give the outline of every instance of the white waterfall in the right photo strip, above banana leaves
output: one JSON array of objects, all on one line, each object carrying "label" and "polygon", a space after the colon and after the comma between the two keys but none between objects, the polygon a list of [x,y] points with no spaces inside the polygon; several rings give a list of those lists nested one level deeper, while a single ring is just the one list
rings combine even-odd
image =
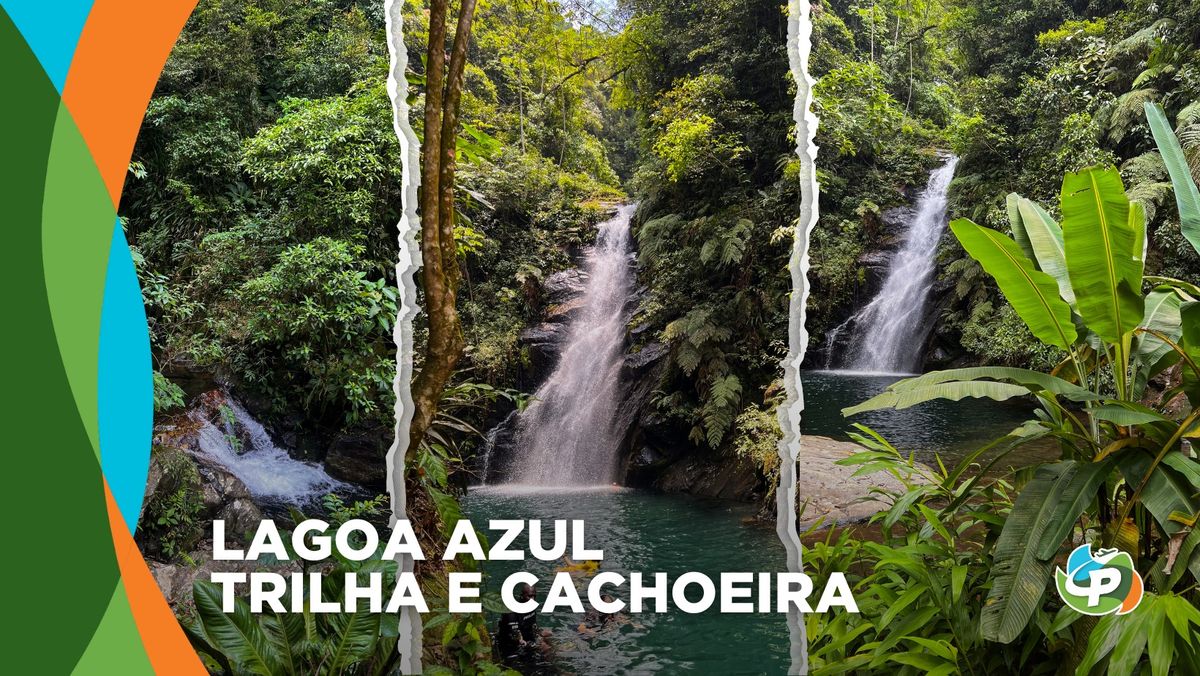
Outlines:
[{"label": "white waterfall in the right photo strip, above banana leaves", "polygon": [[[946,193],[958,162],[950,156],[929,175],[880,293],[830,334],[827,349],[832,354],[838,334],[853,330],[846,358],[836,360],[844,367],[876,373],[911,373],[920,367],[929,334],[925,305],[934,286],[934,257],[946,229]],[[830,359],[829,365],[833,363]]]}]

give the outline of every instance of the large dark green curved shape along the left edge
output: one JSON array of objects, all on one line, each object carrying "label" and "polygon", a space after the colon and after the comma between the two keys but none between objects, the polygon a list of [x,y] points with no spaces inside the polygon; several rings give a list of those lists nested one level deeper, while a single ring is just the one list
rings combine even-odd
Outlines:
[{"label": "large dark green curved shape along the left edge", "polygon": [[42,198],[59,96],[6,13],[0,12],[6,120],[2,185],[7,241],[4,288],[5,603],[22,618],[6,628],[8,674],[66,674],[108,609],[119,570],[100,465],[59,358],[42,268]]}]

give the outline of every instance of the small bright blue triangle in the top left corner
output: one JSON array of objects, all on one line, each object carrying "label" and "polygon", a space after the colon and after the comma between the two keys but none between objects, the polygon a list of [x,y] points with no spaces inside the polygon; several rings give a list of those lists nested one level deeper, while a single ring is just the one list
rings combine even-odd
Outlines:
[{"label": "small bright blue triangle in the top left corner", "polygon": [[91,0],[0,0],[0,5],[62,94]]}]

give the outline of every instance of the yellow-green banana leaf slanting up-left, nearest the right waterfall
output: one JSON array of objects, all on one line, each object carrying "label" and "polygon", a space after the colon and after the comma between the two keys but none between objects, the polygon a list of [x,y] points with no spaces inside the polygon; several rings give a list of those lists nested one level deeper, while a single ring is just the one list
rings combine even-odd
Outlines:
[{"label": "yellow-green banana leaf slanting up-left, nearest the right waterfall", "polygon": [[1033,267],[1013,240],[966,219],[950,223],[962,249],[991,275],[1013,310],[1046,345],[1070,349],[1075,324],[1070,306],[1058,295],[1058,283]]}]

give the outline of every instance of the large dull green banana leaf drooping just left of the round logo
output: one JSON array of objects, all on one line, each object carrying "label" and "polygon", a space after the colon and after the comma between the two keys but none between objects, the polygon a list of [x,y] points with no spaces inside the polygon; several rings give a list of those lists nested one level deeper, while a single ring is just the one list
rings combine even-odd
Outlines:
[{"label": "large dull green banana leaf drooping just left of the round logo", "polygon": [[1080,473],[1088,465],[1073,460],[1043,465],[1016,497],[996,540],[991,591],[980,615],[985,639],[1008,644],[1028,624],[1054,569],[1051,557],[1039,556],[1038,543],[1048,531],[1061,530],[1052,522],[1056,516],[1068,521],[1079,516],[1061,510],[1060,504],[1074,503],[1088,485],[1094,491],[1093,475]]}]

